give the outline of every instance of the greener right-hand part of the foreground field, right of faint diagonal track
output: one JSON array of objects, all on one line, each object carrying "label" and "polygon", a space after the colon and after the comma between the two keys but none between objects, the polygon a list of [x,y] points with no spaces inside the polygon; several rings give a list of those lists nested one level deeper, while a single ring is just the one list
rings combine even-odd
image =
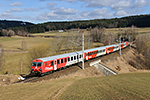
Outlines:
[{"label": "greener right-hand part of the foreground field, right of faint diagonal track", "polygon": [[75,81],[61,100],[139,100],[150,99],[150,73],[121,74]]}]

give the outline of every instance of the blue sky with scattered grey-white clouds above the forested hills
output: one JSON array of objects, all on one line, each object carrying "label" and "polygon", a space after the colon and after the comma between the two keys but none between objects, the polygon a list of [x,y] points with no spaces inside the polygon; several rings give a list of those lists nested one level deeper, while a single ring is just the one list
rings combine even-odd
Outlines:
[{"label": "blue sky with scattered grey-white clouds above the forested hills", "polygon": [[150,14],[150,0],[1,0],[0,20],[75,21]]}]

